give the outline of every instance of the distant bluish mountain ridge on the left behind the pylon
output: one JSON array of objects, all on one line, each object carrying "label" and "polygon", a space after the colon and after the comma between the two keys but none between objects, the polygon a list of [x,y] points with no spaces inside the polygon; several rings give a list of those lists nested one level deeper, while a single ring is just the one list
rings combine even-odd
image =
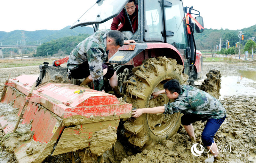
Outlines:
[{"label": "distant bluish mountain ridge on the left behind the pylon", "polygon": [[[22,42],[22,37],[25,37],[26,44],[37,44],[37,40],[41,41],[41,44],[48,42],[52,39],[59,39],[66,36],[76,36],[78,34],[92,34],[93,28],[91,27],[76,27],[69,29],[70,26],[66,26],[61,30],[37,30],[37,31],[24,31],[15,30],[11,32],[0,31],[0,42],[2,45],[17,45],[17,41]],[[22,34],[24,33],[24,34]],[[24,43],[22,43],[24,44]]]}]

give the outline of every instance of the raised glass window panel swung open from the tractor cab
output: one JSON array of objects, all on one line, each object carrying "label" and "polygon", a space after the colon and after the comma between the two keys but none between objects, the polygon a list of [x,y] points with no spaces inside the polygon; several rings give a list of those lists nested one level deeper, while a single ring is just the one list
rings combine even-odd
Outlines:
[{"label": "raised glass window panel swung open from the tractor cab", "polygon": [[128,0],[97,0],[71,27],[103,23],[117,16]]}]

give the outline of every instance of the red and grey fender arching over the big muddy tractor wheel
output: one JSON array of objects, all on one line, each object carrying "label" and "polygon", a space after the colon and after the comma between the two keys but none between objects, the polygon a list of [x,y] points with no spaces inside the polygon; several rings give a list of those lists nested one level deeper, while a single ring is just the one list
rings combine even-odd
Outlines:
[{"label": "red and grey fender arching over the big muddy tractor wheel", "polygon": [[[116,64],[126,64],[127,62],[131,61],[134,57],[136,57],[139,53],[141,53],[144,50],[149,49],[163,49],[164,52],[167,52],[165,56],[167,58],[173,58],[176,59],[178,64],[181,64],[184,68],[184,61],[182,59],[182,56],[178,49],[176,49],[174,46],[168,43],[136,43],[136,44],[130,44],[130,45],[123,45],[118,49],[118,51],[112,55],[108,62],[109,63],[116,63]],[[174,52],[177,55],[168,55],[168,52]],[[152,57],[158,57],[163,56],[162,53],[152,53],[149,58]],[[144,56],[144,59],[147,59],[147,57]],[[140,60],[142,63],[142,60]],[[134,66],[139,66],[141,63],[134,63]]]}]

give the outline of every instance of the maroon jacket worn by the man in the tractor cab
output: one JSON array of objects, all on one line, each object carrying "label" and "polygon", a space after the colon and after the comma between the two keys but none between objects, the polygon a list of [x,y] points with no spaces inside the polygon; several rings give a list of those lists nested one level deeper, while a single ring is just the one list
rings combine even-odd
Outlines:
[{"label": "maroon jacket worn by the man in the tractor cab", "polygon": [[[132,14],[132,18],[130,17],[130,20],[132,23],[133,31],[136,32],[138,29],[138,5],[136,5],[135,12]],[[132,28],[126,16],[125,9],[123,9],[115,18],[113,18],[113,22],[110,27],[111,30],[118,30],[121,32],[122,31],[132,32]]]}]

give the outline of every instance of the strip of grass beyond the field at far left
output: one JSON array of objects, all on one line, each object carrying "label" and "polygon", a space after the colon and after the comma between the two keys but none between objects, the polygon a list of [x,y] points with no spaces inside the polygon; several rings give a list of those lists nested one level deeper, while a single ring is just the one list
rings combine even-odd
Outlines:
[{"label": "strip of grass beyond the field at far left", "polygon": [[10,67],[23,67],[23,66],[38,66],[43,64],[44,62],[49,62],[49,64],[52,64],[52,61],[56,59],[23,59],[21,61],[20,59],[15,60],[0,60],[0,68],[10,68]]}]

